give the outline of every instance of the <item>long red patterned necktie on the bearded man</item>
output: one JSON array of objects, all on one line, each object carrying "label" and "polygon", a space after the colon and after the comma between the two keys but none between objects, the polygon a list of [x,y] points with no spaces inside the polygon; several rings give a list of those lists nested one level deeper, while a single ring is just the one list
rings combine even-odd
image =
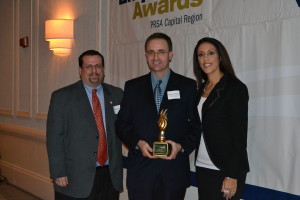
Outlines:
[{"label": "long red patterned necktie on the bearded man", "polygon": [[100,136],[97,161],[101,166],[103,166],[106,163],[108,157],[107,144],[106,144],[106,134],[105,134],[103,118],[102,118],[102,110],[96,93],[97,90],[93,89],[92,103],[94,109],[94,116],[95,116],[98,132]]}]

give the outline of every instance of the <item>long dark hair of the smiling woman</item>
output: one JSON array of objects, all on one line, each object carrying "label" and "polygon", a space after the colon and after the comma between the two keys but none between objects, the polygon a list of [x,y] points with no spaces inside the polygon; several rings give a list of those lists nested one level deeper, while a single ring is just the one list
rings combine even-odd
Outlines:
[{"label": "long dark hair of the smiling woman", "polygon": [[203,80],[204,81],[207,80],[207,75],[203,72],[203,70],[201,69],[200,64],[198,62],[198,53],[197,53],[199,46],[203,43],[210,43],[216,48],[217,53],[220,58],[220,66],[219,67],[220,67],[221,72],[228,72],[228,73],[232,74],[233,76],[235,76],[228,52],[227,52],[226,48],[224,47],[224,45],[217,39],[205,37],[198,41],[198,43],[194,49],[193,67],[194,67],[194,74],[197,78],[198,84],[201,84]]}]

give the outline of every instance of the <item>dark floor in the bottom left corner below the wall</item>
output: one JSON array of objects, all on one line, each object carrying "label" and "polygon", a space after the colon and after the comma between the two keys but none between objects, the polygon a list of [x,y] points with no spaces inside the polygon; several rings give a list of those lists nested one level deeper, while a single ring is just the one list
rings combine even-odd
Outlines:
[{"label": "dark floor in the bottom left corner below the wall", "polygon": [[0,200],[41,200],[10,184],[0,184]]}]

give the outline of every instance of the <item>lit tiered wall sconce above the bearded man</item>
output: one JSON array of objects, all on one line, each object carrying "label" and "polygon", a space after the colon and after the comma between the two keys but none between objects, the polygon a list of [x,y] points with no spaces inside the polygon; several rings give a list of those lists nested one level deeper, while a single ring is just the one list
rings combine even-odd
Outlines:
[{"label": "lit tiered wall sconce above the bearded man", "polygon": [[45,39],[49,41],[49,49],[54,55],[70,55],[74,38],[74,20],[56,19],[45,21]]}]

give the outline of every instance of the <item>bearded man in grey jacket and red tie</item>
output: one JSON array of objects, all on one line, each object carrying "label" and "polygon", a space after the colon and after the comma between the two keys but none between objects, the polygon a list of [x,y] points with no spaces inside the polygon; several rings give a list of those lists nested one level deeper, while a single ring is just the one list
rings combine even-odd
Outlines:
[{"label": "bearded man in grey jacket and red tie", "polygon": [[53,92],[47,150],[55,199],[119,199],[122,145],[115,120],[123,92],[103,83],[104,58],[94,50],[79,57],[81,80]]}]

